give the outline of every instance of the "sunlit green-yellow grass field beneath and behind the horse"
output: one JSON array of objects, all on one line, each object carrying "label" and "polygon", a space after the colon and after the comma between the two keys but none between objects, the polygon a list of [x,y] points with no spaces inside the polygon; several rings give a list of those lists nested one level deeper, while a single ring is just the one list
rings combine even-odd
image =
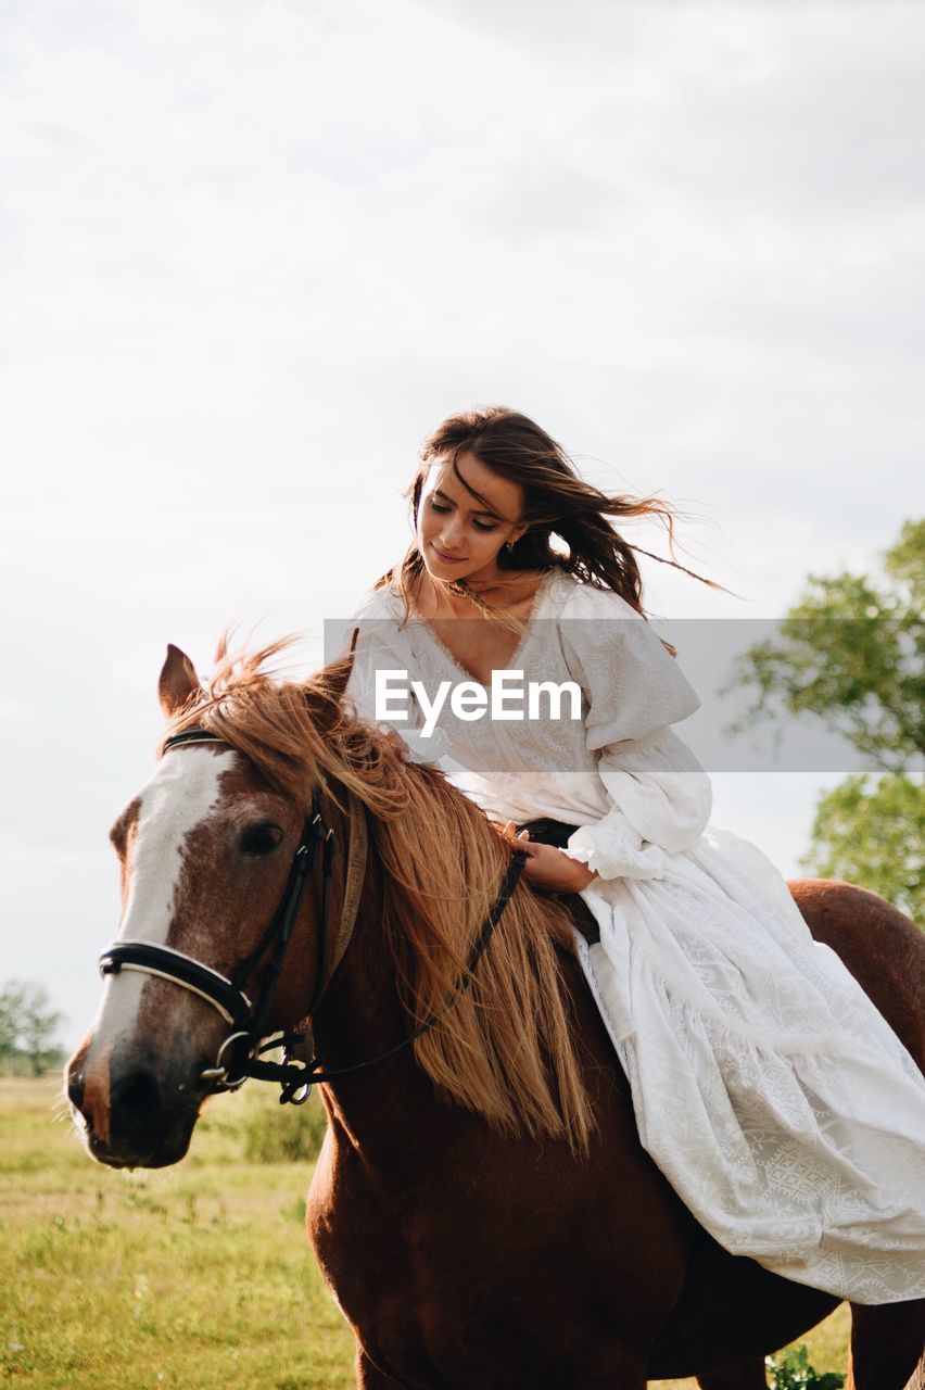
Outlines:
[{"label": "sunlit green-yellow grass field beneath and behind the horse", "polygon": [[[354,1384],[304,1234],[311,1165],[253,1158],[256,1131],[293,1123],[271,1088],[212,1102],[182,1163],[133,1175],[86,1156],[54,1118],[58,1091],[0,1080],[0,1375],[40,1390]],[[847,1309],[806,1340],[817,1369],[844,1371]]]}]

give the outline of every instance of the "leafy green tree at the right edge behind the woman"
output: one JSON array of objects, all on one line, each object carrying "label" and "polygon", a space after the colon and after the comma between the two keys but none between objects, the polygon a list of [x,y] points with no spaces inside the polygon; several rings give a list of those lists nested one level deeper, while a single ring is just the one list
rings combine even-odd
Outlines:
[{"label": "leafy green tree at the right edge behind the woman", "polygon": [[819,801],[803,866],[872,888],[919,920],[924,602],[925,520],[907,521],[883,578],[808,575],[779,637],[750,648],[733,676],[756,691],[733,731],[782,714],[822,720],[879,769]]}]

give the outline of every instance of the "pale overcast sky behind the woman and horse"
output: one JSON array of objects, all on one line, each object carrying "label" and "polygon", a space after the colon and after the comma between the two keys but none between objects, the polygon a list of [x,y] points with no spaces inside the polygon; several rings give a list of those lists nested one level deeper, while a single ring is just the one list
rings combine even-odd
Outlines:
[{"label": "pale overcast sky behind the woman and horse", "polygon": [[[444,416],[671,500],[733,594],[644,562],[667,619],[779,617],[921,514],[924,51],[892,0],[6,0],[0,980],[67,1045],[167,642],[317,664]],[[797,769],[714,778],[788,876],[839,780]]]}]

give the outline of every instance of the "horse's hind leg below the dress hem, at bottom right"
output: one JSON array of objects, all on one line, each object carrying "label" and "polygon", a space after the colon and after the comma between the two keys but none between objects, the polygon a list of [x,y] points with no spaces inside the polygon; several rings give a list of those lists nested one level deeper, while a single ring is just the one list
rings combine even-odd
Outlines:
[{"label": "horse's hind leg below the dress hem, at bottom right", "polygon": [[925,1298],[851,1304],[847,1390],[925,1387]]}]

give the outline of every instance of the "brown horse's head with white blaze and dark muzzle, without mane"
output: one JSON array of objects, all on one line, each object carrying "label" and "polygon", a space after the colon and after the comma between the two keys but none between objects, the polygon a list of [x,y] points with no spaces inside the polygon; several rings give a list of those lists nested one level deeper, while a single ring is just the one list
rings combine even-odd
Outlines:
[{"label": "brown horse's head with white blaze and dark muzzle, without mane", "polygon": [[[324,694],[336,708],[338,691]],[[325,824],[317,784],[299,794],[221,733],[197,730],[204,691],[172,646],[160,698],[179,733],[112,827],[119,940],[101,959],[100,1011],[67,1069],[89,1151],[114,1166],[181,1159],[204,1097],[239,1081],[260,1038],[304,1019],[344,945],[343,874],[322,891],[332,820],[342,828],[343,815],[325,798]],[[312,929],[318,949],[303,942],[276,980],[290,934]]]}]

